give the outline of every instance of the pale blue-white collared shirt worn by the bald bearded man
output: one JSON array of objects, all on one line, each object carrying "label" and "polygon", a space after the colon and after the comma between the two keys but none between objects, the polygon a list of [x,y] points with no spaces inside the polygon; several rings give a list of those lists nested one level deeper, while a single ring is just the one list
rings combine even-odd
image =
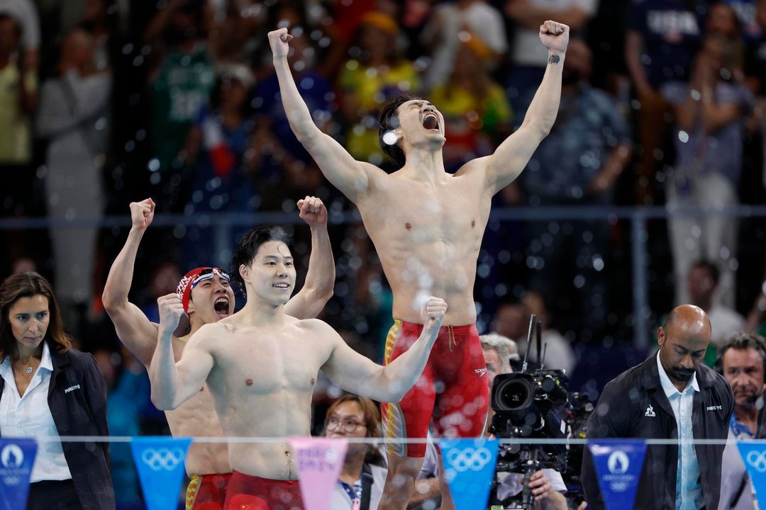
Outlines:
[{"label": "pale blue-white collared shirt worn by the bald bearded man", "polygon": [[673,408],[678,429],[678,466],[676,467],[676,510],[697,510],[705,505],[702,494],[702,482],[699,478],[699,463],[694,450],[694,432],[692,431],[692,410],[694,408],[694,392],[699,391],[697,375],[692,374],[691,380],[683,391],[678,391],[670,382],[670,378],[660,362],[660,352],[657,352],[657,369],[660,371],[660,384],[665,396]]}]

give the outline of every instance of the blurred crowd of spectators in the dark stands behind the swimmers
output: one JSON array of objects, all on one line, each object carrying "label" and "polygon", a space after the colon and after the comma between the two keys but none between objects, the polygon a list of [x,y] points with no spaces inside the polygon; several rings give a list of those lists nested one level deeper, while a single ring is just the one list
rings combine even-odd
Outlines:
[{"label": "blurred crowd of spectators in the dark stands behind the swimmers", "polygon": [[[112,434],[162,433],[144,369],[100,304],[129,220],[101,219],[146,197],[158,218],[188,219],[152,226],[139,252],[131,300],[156,319],[156,298],[189,268],[226,265],[211,214],[297,217],[313,195],[330,212],[338,278],[321,317],[380,361],[391,292],[361,223],[332,222],[353,205],[293,137],[266,34],[289,28],[303,99],[355,158],[395,170],[376,115],[410,94],[444,114],[454,172],[523,122],[547,65],[545,19],[571,28],[558,119],[493,210],[665,206],[643,239],[650,315],[633,316],[623,217],[490,219],[480,333],[519,342],[535,313],[546,365],[592,399],[647,354],[633,327],[656,330],[675,304],[708,311],[713,343],[763,333],[766,219],[724,212],[766,203],[766,0],[2,0],[0,271],[54,281],[67,330],[119,402]],[[675,213],[689,207],[712,214]],[[35,218],[49,228],[14,223]],[[226,248],[249,227],[226,229]],[[308,229],[294,235],[305,274]]]}]

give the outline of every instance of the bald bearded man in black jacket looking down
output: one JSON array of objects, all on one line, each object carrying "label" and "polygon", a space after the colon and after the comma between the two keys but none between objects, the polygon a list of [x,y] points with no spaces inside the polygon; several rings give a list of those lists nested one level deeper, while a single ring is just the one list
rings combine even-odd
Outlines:
[{"label": "bald bearded man in black jacket looking down", "polygon": [[[647,447],[636,510],[718,508],[725,442],[691,442],[725,440],[734,411],[728,382],[702,365],[710,334],[702,308],[674,308],[657,331],[659,352],[609,382],[588,418],[588,439],[678,440]],[[581,479],[590,508],[604,508],[588,448]]]}]

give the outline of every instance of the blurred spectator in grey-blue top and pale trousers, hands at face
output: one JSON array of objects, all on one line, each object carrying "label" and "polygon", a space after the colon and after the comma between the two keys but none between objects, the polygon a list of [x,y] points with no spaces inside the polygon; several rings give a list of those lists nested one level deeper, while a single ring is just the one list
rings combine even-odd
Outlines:
[{"label": "blurred spectator in grey-blue top and pale trousers, hands at face", "polygon": [[[705,37],[689,84],[666,83],[663,96],[676,114],[676,161],[668,185],[671,211],[689,206],[721,210],[736,205],[742,171],[745,117],[753,97],[741,82],[737,41],[722,34]],[[676,278],[676,303],[689,302],[684,279],[692,262],[706,258],[721,270],[716,299],[734,306],[738,222],[734,216],[689,216],[668,220]]]}]

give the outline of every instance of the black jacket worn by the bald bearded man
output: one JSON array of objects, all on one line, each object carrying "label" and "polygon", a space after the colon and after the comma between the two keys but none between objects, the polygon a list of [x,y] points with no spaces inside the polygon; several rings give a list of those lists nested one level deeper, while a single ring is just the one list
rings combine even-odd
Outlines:
[{"label": "black jacket worn by the bald bearded man", "polygon": [[[721,375],[705,365],[696,372],[699,391],[694,392],[694,439],[722,439],[734,411],[732,388]],[[609,382],[588,418],[588,439],[643,437],[677,439],[676,417],[660,384],[656,355]],[[721,489],[724,444],[695,444],[705,508],[715,510]],[[676,508],[678,444],[649,445],[636,495],[635,510]],[[597,475],[588,448],[583,450],[581,482],[590,508],[604,508]],[[627,505],[626,505],[627,508]]]}]

